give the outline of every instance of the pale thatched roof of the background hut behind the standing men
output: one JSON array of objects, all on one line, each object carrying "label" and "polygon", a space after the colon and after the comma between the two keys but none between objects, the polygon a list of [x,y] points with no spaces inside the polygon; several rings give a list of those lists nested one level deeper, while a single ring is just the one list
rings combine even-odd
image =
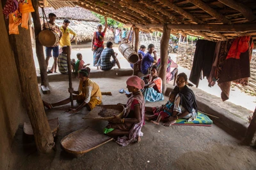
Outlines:
[{"label": "pale thatched roof of the background hut behind the standing men", "polygon": [[[86,10],[79,6],[65,6],[63,8],[58,8],[56,10],[52,7],[45,7],[44,10],[47,17],[49,13],[54,13],[57,16],[56,18],[60,19],[67,18],[73,20],[100,22],[99,18],[95,17],[95,15],[92,14],[92,11]],[[40,17],[43,17],[42,10],[39,10],[39,15]]]}]

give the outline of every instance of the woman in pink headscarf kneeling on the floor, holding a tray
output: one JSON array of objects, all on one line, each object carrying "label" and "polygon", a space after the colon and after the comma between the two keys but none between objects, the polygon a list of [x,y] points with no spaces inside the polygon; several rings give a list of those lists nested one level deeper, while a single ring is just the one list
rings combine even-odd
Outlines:
[{"label": "woman in pink headscarf kneeling on the floor, holding a tray", "polygon": [[125,106],[125,113],[122,118],[114,118],[104,129],[108,136],[117,137],[116,143],[122,146],[129,145],[134,139],[140,142],[140,136],[143,136],[141,127],[143,126],[145,101],[141,94],[145,83],[138,76],[131,76],[127,79],[127,89],[132,92]]}]

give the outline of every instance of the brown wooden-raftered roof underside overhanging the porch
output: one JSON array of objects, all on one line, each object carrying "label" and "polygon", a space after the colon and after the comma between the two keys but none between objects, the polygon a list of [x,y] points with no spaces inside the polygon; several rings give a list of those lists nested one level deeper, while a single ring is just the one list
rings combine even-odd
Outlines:
[{"label": "brown wooden-raftered roof underside overhanging the porch", "polygon": [[[78,0],[51,1],[76,4],[142,30],[202,36],[212,41],[250,35],[256,38],[255,0]],[[70,5],[71,6],[71,5]]]}]

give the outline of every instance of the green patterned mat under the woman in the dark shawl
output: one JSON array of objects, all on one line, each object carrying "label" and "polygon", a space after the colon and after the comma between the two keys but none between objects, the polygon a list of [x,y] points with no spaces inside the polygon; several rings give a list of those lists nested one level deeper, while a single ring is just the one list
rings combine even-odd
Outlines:
[{"label": "green patterned mat under the woman in the dark shawl", "polygon": [[180,118],[179,120],[176,121],[175,124],[205,124],[205,125],[211,125],[213,122],[212,120],[207,117],[207,115],[204,115],[203,113],[200,113],[198,111],[198,115],[196,117],[196,120],[193,120],[191,122],[188,122],[188,120],[184,118]]}]

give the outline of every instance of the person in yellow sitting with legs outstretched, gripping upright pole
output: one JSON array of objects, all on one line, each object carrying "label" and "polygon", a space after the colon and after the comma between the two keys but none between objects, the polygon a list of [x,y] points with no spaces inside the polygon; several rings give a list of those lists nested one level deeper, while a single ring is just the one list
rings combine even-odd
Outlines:
[{"label": "person in yellow sitting with legs outstretched, gripping upright pole", "polygon": [[[77,100],[77,103],[80,103],[80,105],[75,109],[71,108],[68,113],[76,113],[84,106],[90,111],[95,108],[96,105],[100,104],[102,100],[99,85],[89,78],[90,68],[86,67],[85,69],[81,69],[78,73],[80,80],[78,90],[68,89],[68,92],[76,94],[73,95],[73,100]],[[55,106],[70,103],[70,97],[57,103],[47,103],[45,101],[43,101],[43,103],[45,107],[51,109]]]}]

